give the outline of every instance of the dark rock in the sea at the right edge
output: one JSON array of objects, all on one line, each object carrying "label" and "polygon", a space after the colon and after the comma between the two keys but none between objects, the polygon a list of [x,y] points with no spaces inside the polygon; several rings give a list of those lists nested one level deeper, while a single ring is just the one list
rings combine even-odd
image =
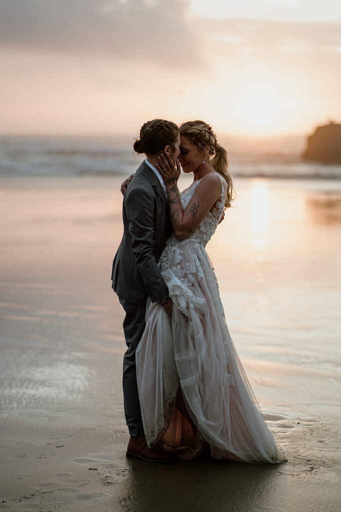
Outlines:
[{"label": "dark rock in the sea at the right edge", "polygon": [[308,137],[302,157],[317,162],[341,164],[341,124],[331,121],[325,126],[317,126],[314,134]]}]

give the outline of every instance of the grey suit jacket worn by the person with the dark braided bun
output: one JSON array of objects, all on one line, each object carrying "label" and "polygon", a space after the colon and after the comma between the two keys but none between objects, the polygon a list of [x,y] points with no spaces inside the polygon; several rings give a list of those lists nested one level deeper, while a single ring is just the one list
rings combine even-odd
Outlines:
[{"label": "grey suit jacket worn by the person with the dark braided bun", "polygon": [[153,170],[143,162],[123,199],[123,238],[112,264],[112,288],[133,304],[168,295],[157,262],[172,233],[169,206]]}]

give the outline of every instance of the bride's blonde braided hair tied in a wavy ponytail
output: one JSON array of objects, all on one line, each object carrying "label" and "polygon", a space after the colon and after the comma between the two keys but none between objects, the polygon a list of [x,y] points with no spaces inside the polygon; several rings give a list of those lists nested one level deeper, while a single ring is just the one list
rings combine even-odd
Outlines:
[{"label": "bride's blonde braided hair tied in a wavy ponytail", "polygon": [[180,135],[186,137],[195,144],[199,151],[211,160],[216,170],[228,183],[228,193],[225,200],[225,208],[231,207],[234,190],[232,177],[229,172],[229,158],[226,150],[217,142],[217,136],[212,127],[204,121],[187,121],[180,125]]}]

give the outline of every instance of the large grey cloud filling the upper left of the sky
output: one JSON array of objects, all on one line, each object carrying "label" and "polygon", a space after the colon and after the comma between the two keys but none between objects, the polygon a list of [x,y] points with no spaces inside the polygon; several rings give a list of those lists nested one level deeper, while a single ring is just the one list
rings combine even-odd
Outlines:
[{"label": "large grey cloud filling the upper left of the sky", "polygon": [[0,44],[190,70],[202,63],[181,0],[0,0]]}]

